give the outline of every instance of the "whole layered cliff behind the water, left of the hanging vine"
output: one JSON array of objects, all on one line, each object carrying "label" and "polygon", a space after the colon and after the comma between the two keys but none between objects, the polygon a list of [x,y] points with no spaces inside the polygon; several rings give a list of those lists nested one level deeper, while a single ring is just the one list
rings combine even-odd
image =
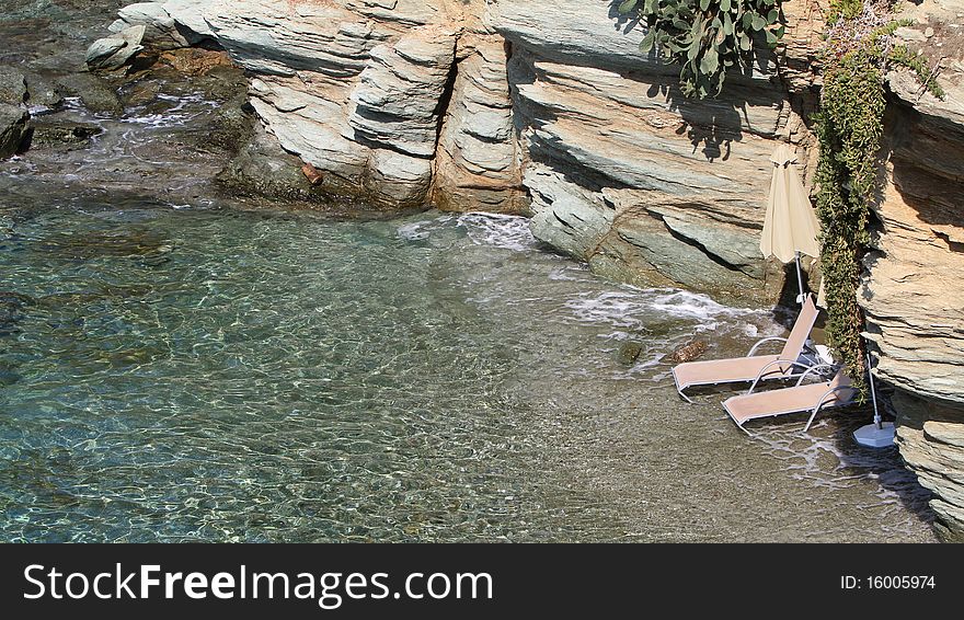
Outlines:
[{"label": "whole layered cliff behind the water, left of the hanging vine", "polygon": [[770,301],[783,284],[758,234],[767,158],[801,123],[772,58],[726,100],[686,100],[605,0],[171,0],[112,30],[138,25],[227,49],[328,192],[530,213],[539,239],[628,282]]}]

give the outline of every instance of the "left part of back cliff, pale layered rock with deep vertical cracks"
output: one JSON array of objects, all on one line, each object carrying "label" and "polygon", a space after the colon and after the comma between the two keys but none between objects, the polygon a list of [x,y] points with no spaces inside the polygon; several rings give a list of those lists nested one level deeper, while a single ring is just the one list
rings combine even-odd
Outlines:
[{"label": "left part of back cliff, pale layered rock with deep vertical cracks", "polygon": [[267,130],[325,191],[519,211],[504,44],[477,4],[172,0],[128,7],[113,27],[141,23],[159,48],[227,49]]}]

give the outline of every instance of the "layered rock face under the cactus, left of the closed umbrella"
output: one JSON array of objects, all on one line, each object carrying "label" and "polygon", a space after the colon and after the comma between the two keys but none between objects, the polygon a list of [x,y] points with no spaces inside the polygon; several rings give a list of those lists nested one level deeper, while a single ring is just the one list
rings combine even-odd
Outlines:
[{"label": "layered rock face under the cactus, left of the closed umbrella", "polygon": [[618,279],[765,295],[768,157],[790,110],[771,74],[733,77],[726,100],[696,102],[636,51],[640,28],[592,19],[584,3],[491,3],[486,23],[512,44],[539,239]]}]

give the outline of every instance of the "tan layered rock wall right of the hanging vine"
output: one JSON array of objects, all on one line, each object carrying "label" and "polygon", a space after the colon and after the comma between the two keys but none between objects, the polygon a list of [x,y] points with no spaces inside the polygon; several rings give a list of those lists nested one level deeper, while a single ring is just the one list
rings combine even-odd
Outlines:
[{"label": "tan layered rock wall right of the hanging vine", "polygon": [[943,101],[890,76],[888,163],[861,303],[877,376],[898,388],[898,444],[941,527],[964,540],[964,2],[928,1],[899,33],[941,71]]}]

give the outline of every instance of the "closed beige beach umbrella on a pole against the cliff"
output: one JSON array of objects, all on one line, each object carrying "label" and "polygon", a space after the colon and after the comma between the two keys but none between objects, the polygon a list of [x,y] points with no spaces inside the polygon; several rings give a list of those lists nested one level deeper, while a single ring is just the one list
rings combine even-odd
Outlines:
[{"label": "closed beige beach umbrella on a pole against the cliff", "polygon": [[796,154],[788,145],[780,145],[770,156],[773,162],[773,179],[770,182],[770,196],[767,200],[767,217],[764,220],[764,234],[760,252],[764,257],[776,256],[783,263],[796,261],[796,280],[803,296],[803,276],[800,268],[800,254],[814,259],[820,255],[817,244],[817,216],[810,204],[810,197],[793,163]]}]

